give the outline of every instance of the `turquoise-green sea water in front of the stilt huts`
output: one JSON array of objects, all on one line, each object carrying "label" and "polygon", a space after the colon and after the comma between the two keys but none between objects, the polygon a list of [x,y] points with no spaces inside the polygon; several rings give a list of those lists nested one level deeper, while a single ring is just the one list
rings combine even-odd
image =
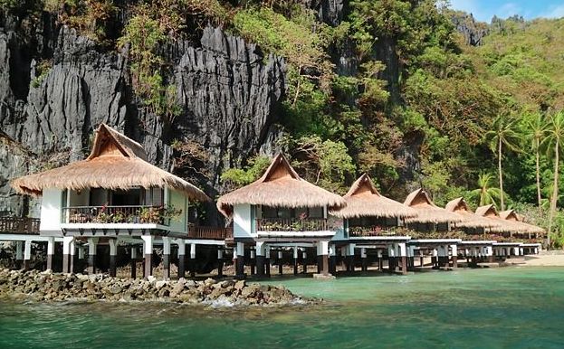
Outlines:
[{"label": "turquoise-green sea water in front of the stilt huts", "polygon": [[564,269],[272,278],[315,307],[0,303],[0,348],[564,347]]}]

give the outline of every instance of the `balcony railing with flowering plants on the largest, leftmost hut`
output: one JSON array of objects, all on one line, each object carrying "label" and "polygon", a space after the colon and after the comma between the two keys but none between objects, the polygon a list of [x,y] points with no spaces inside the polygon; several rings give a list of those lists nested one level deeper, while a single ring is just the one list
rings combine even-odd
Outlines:
[{"label": "balcony railing with flowering plants on the largest, leftmost hut", "polygon": [[68,223],[153,223],[168,225],[170,212],[164,206],[76,206],[62,208]]}]

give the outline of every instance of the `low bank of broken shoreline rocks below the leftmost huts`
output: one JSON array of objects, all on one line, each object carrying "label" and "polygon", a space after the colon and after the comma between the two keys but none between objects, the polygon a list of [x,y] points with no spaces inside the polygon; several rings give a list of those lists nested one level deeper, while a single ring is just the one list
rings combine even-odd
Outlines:
[{"label": "low bank of broken shoreline rocks below the leftmost huts", "polygon": [[216,307],[292,306],[317,302],[296,296],[284,287],[248,284],[244,280],[131,279],[103,274],[0,269],[0,297],[6,296],[34,301],[166,301]]}]

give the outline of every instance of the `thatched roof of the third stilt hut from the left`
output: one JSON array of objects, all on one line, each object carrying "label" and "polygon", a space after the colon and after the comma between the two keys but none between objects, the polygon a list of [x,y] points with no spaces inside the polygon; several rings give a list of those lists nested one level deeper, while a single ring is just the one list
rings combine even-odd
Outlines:
[{"label": "thatched roof of the third stilt hut from the left", "polygon": [[340,218],[355,217],[415,217],[417,212],[378,193],[368,174],[362,174],[343,196],[347,206],[331,214]]}]

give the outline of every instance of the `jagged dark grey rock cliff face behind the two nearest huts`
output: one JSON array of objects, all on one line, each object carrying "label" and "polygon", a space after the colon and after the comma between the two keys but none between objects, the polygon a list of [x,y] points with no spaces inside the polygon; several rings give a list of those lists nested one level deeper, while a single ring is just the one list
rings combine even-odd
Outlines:
[{"label": "jagged dark grey rock cliff face behind the two nearest huts", "polygon": [[[173,122],[136,101],[127,52],[101,49],[75,30],[54,24],[0,19],[0,213],[27,210],[7,181],[53,163],[83,158],[93,130],[106,122],[145,146],[150,161],[174,164],[173,141],[194,142],[208,157],[192,180],[210,196],[219,174],[259,149],[274,151],[276,108],[284,62],[263,57],[255,45],[207,27],[200,42],[163,47],[182,112]],[[38,71],[41,61],[51,68]],[[13,149],[22,149],[15,155]],[[14,156],[27,160],[18,161]],[[24,162],[24,164],[22,163]],[[33,212],[32,212],[33,214]]]}]

